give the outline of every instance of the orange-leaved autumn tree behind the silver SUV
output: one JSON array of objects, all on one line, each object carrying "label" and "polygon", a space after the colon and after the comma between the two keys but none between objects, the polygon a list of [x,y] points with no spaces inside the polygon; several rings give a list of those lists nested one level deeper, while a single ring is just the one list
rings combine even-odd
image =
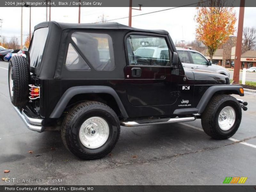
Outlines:
[{"label": "orange-leaved autumn tree behind the silver SUV", "polygon": [[233,7],[198,7],[195,20],[197,22],[196,39],[208,48],[212,61],[214,52],[236,30],[236,12]]}]

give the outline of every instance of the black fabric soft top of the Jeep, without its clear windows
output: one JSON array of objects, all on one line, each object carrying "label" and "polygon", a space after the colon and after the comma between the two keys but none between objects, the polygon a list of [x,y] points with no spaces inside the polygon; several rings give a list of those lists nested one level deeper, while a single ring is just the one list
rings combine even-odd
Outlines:
[{"label": "black fabric soft top of the Jeep, without its clear windows", "polygon": [[[41,63],[39,66],[30,67],[30,71],[36,74],[41,79],[84,79],[84,78],[124,78],[124,74],[120,73],[123,71],[126,65],[126,55],[124,50],[124,36],[129,32],[145,32],[148,34],[158,34],[160,36],[167,36],[168,32],[164,30],[146,30],[137,29],[129,26],[121,25],[119,23],[88,23],[88,24],[77,24],[77,23],[59,23],[55,21],[42,22],[35,26],[35,31],[40,28],[48,28],[49,32],[46,38],[44,51],[39,53],[41,57]],[[68,45],[73,44],[71,35],[74,31],[90,30],[91,32],[98,30],[108,31],[108,35],[112,37],[114,52],[115,52],[115,63],[116,67],[113,71],[82,71],[82,70],[67,70],[64,66],[66,61],[66,55],[68,52]],[[34,33],[35,35],[35,33]],[[32,43],[34,41],[34,35],[32,37]],[[37,40],[40,43],[39,40]],[[76,46],[73,44],[73,46]],[[31,46],[29,47],[29,51]],[[78,48],[77,48],[78,49]],[[79,49],[78,49],[79,50]],[[41,54],[41,56],[40,56]],[[81,54],[81,53],[80,53]]]}]

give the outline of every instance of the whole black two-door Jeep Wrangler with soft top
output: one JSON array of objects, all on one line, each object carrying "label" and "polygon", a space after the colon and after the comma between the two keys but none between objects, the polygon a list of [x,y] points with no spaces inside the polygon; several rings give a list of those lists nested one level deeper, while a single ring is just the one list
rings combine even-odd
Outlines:
[{"label": "whole black two-door Jeep Wrangler with soft top", "polygon": [[184,71],[164,30],[44,22],[26,54],[9,63],[16,111],[33,131],[59,129],[65,146],[83,159],[108,154],[120,125],[201,118],[206,134],[227,139],[246,110],[246,102],[230,96],[244,96],[243,88],[227,76]]}]

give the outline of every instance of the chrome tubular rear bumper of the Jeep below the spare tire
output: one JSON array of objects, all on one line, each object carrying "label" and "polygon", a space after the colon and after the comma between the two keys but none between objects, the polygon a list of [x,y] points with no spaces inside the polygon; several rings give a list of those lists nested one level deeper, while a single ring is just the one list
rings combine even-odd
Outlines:
[{"label": "chrome tubular rear bumper of the Jeep below the spare tire", "polygon": [[29,117],[24,109],[20,111],[20,109],[14,107],[14,110],[18,113],[28,129],[37,132],[44,132],[43,119]]}]

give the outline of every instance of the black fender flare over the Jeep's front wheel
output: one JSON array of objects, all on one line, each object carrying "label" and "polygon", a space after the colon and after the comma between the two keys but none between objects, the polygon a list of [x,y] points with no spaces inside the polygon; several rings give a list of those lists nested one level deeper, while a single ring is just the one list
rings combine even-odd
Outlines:
[{"label": "black fender flare over the Jeep's front wheel", "polygon": [[176,109],[173,112],[173,114],[174,115],[191,115],[196,113],[203,113],[210,99],[216,92],[219,92],[219,91],[232,92],[232,94],[244,96],[244,93],[240,92],[240,88],[243,88],[243,87],[240,85],[213,85],[204,92],[204,95],[202,96],[201,100],[197,104],[196,108]]}]

